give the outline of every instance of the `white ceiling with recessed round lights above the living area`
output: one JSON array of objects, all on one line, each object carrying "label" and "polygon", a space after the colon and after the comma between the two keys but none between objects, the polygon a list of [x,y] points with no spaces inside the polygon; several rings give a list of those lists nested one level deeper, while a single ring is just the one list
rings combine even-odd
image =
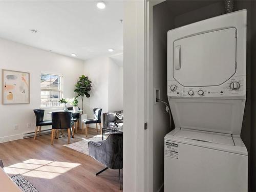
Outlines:
[{"label": "white ceiling with recessed round lights above the living area", "polygon": [[0,37],[83,60],[121,53],[123,2],[104,2],[0,1]]}]

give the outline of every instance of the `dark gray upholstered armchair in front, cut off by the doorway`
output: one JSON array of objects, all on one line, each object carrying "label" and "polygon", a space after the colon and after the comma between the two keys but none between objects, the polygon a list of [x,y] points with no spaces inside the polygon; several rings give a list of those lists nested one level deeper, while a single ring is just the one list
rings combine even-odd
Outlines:
[{"label": "dark gray upholstered armchair in front, cut off by the doorway", "polygon": [[106,167],[106,169],[119,169],[119,187],[121,189],[120,169],[123,168],[123,132],[112,133],[104,141],[89,141],[89,155]]}]

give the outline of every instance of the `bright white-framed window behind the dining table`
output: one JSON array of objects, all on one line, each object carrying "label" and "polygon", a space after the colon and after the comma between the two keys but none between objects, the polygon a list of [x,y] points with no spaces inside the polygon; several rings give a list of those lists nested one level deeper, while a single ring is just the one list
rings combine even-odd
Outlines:
[{"label": "bright white-framed window behind the dining table", "polygon": [[60,106],[62,77],[41,73],[41,106]]}]

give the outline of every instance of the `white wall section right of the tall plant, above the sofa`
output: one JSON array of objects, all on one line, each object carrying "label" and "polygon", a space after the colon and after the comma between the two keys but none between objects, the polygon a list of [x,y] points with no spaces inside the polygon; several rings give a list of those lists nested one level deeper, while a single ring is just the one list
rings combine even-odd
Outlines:
[{"label": "white wall section right of the tall plant, above the sofa", "polygon": [[84,75],[92,81],[91,97],[84,99],[84,109],[89,118],[93,118],[94,108],[102,108],[102,113],[123,109],[122,71],[123,67],[109,57],[84,61]]}]

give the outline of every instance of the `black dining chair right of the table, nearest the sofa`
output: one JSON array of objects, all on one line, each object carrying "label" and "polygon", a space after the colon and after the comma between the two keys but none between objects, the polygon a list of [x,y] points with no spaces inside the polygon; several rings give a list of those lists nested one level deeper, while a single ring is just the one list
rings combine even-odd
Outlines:
[{"label": "black dining chair right of the table, nearest the sofa", "polygon": [[93,109],[94,118],[82,120],[82,132],[84,130],[84,124],[86,124],[86,137],[88,136],[88,126],[89,126],[89,124],[93,124],[93,123],[96,124],[97,132],[98,132],[98,123],[99,123],[100,134],[102,134],[101,112],[102,112],[102,108],[95,108],[95,109]]}]

